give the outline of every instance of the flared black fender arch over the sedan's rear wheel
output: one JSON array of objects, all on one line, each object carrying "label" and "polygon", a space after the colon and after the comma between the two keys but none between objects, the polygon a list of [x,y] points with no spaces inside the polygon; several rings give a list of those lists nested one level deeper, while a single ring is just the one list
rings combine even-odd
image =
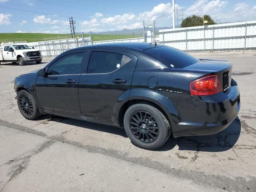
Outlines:
[{"label": "flared black fender arch over the sedan's rear wheel", "polygon": [[113,108],[112,121],[118,122],[118,114],[122,106],[131,100],[145,100],[155,103],[159,106],[170,120],[171,125],[178,124],[181,122],[180,115],[178,110],[175,108],[172,101],[155,90],[150,90],[146,88],[134,88],[131,90],[127,90],[123,92],[119,97],[118,100]]}]

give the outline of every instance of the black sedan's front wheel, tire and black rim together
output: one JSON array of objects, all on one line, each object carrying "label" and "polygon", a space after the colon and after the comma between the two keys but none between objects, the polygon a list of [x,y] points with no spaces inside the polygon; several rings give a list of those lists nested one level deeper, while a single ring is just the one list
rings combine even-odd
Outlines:
[{"label": "black sedan's front wheel, tire and black rim together", "polygon": [[33,96],[25,90],[18,92],[17,104],[22,116],[28,120],[35,120],[42,116],[42,114],[38,111],[37,104]]}]

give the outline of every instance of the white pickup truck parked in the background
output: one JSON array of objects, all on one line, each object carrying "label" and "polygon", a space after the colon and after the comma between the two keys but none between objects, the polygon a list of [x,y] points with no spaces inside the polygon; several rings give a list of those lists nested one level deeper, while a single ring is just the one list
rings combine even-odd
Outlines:
[{"label": "white pickup truck parked in the background", "polygon": [[40,50],[29,47],[26,42],[2,42],[0,45],[0,64],[1,62],[18,62],[19,65],[26,65],[26,62],[42,62]]}]

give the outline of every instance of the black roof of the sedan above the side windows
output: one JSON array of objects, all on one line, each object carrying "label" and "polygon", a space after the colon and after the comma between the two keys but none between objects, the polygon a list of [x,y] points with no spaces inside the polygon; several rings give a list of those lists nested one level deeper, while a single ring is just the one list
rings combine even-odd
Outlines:
[{"label": "black roof of the sedan above the side windows", "polygon": [[84,48],[97,48],[97,49],[112,49],[112,48],[132,48],[132,49],[136,49],[136,50],[146,50],[146,49],[150,49],[150,48],[154,48],[154,47],[159,47],[159,46],[164,46],[164,45],[160,45],[160,44],[156,44],[156,46],[154,44],[150,44],[150,43],[144,43],[144,42],[122,42],[122,43],[104,43],[104,44],[96,44],[96,45],[89,45],[89,46],[84,46],[84,47],[80,47],[80,48],[76,48],[76,50],[79,49],[84,49]]}]

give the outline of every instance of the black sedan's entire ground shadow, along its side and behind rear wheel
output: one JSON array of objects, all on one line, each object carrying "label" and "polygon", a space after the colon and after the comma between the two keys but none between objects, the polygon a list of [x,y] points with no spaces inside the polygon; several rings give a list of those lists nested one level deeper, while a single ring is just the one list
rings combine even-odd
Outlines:
[{"label": "black sedan's entire ground shadow, along its side and behind rear wheel", "polygon": [[[127,138],[127,135],[123,128],[117,128],[113,126],[106,126],[101,124],[96,124],[92,122],[84,122],[78,120],[70,120],[68,118],[62,118],[57,116],[45,115],[42,116],[39,120],[48,120],[62,122],[65,124],[70,124],[76,126],[79,124],[79,127],[96,130],[100,132],[107,132],[111,134],[120,135],[124,138]],[[80,123],[78,123],[80,122]],[[208,136],[189,136],[189,137],[179,137],[174,138],[170,136],[167,142],[159,148],[157,151],[168,151],[172,150],[174,146],[178,145],[179,150],[191,150],[191,151],[205,151],[205,152],[221,152],[226,151],[232,148],[241,132],[241,123],[238,118],[236,119],[223,131],[218,134],[208,135]]]}]

